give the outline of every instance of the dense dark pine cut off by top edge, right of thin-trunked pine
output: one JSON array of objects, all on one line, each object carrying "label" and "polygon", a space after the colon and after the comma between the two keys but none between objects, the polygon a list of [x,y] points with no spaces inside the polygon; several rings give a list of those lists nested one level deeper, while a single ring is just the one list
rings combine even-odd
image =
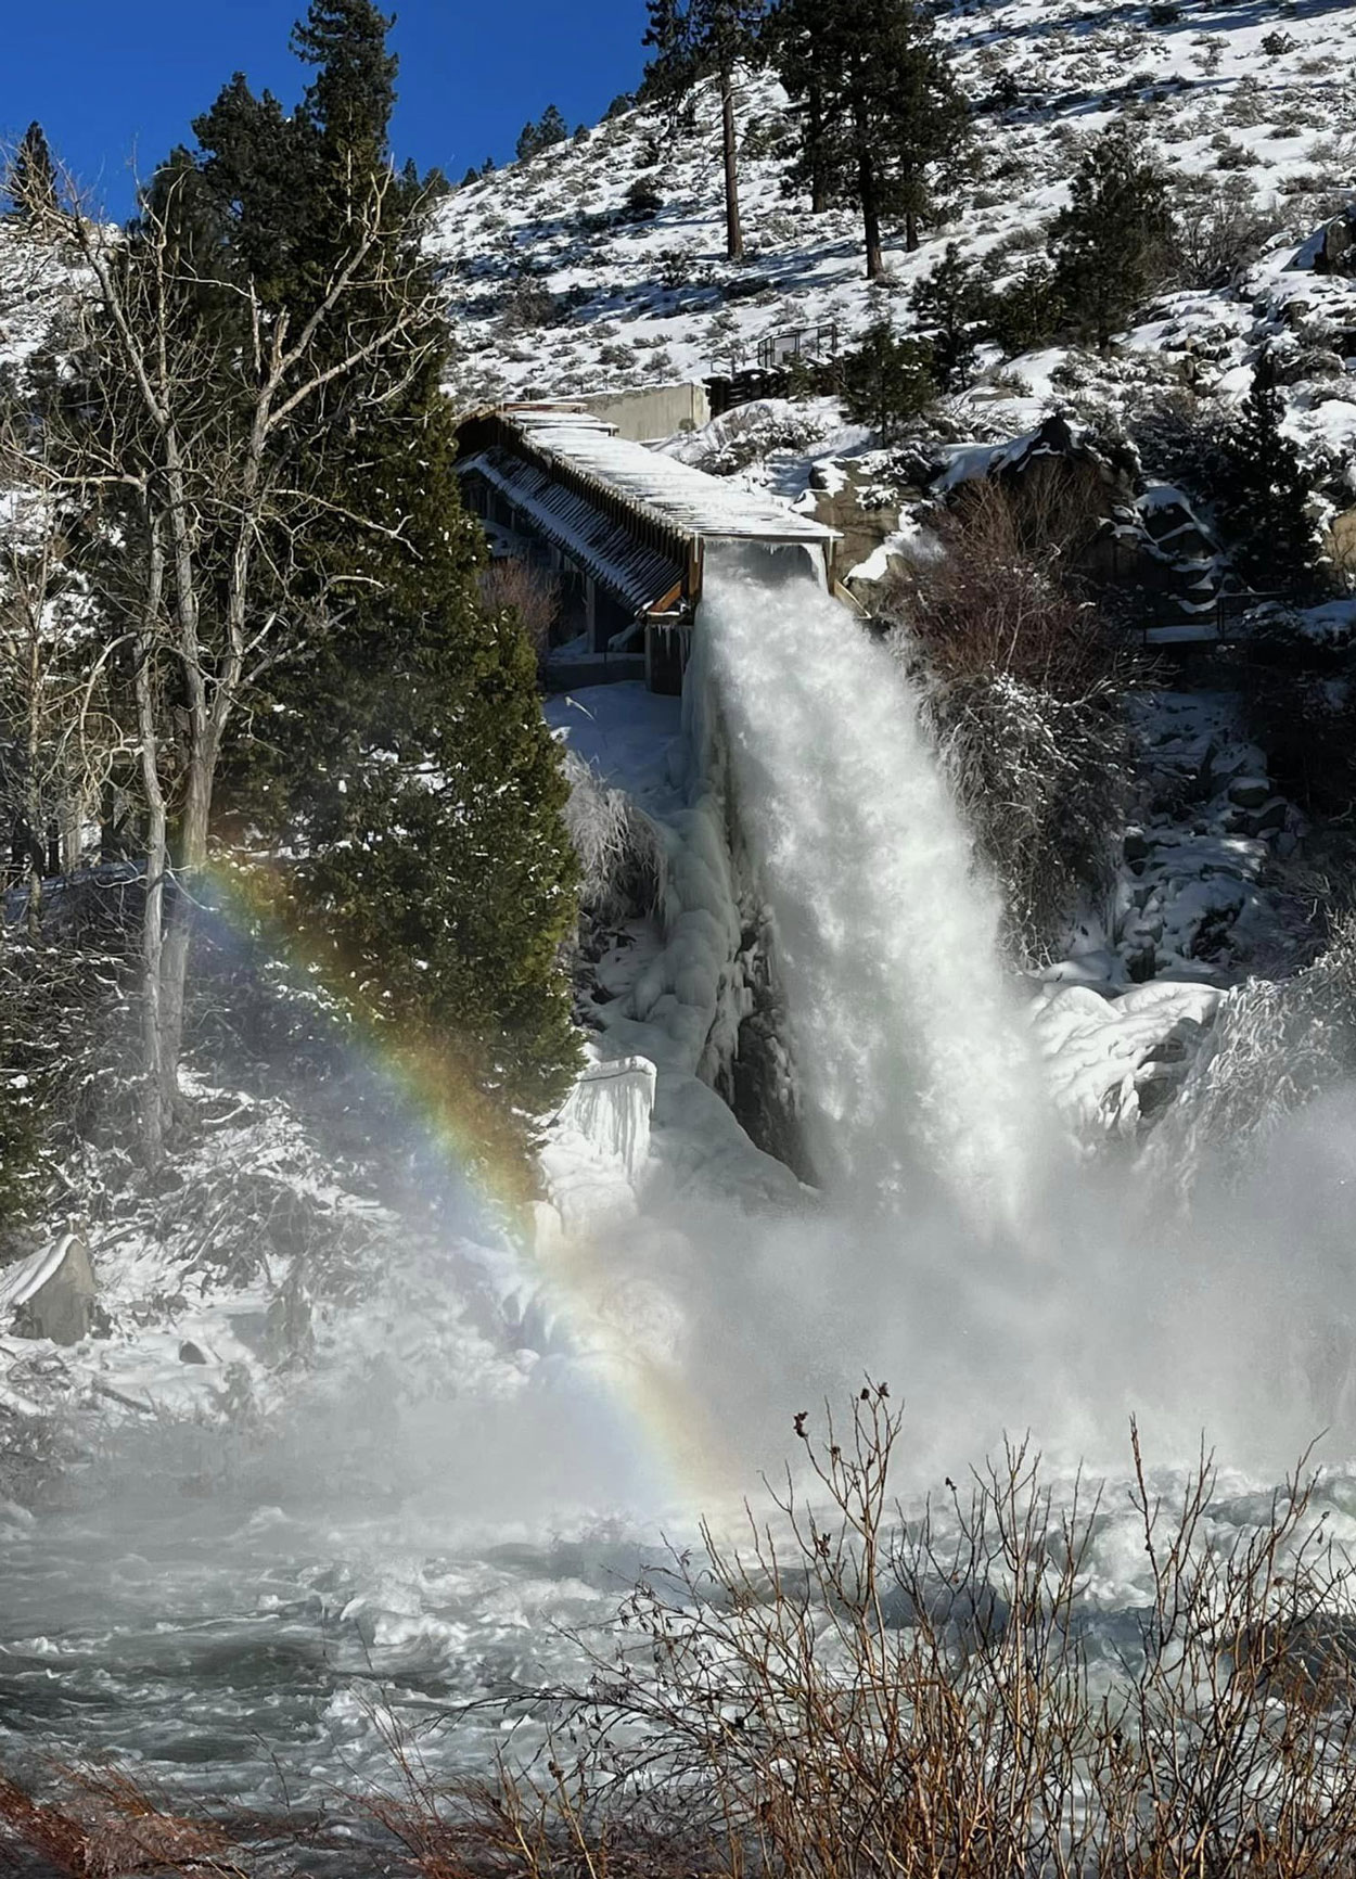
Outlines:
[{"label": "dense dark pine cut off by top edge, right of thin-trunked pine", "polygon": [[862,212],[866,272],[885,272],[883,220],[905,246],[963,150],[969,111],[920,0],[781,0],[772,34],[781,83],[800,107],[815,175]]}]

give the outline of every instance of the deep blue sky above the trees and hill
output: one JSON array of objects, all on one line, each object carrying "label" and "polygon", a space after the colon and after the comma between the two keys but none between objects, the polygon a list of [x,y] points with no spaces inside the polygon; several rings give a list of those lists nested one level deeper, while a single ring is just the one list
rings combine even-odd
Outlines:
[{"label": "deep blue sky above the trees and hill", "polygon": [[[0,137],[38,118],[56,154],[115,216],[133,165],[152,167],[233,71],[291,103],[304,68],[287,36],[306,0],[49,0],[6,9]],[[558,103],[593,124],[631,90],[644,0],[387,0],[400,53],[396,156],[456,182],[513,154],[526,118]]]}]

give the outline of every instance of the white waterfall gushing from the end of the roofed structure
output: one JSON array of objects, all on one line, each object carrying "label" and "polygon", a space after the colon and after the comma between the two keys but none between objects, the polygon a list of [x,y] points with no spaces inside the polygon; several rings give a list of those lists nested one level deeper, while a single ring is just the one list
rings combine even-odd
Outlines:
[{"label": "white waterfall gushing from the end of the roofed structure", "polygon": [[898,661],[804,556],[708,551],[689,688],[759,868],[819,1180],[885,1208],[941,1186],[1016,1225],[1054,1131]]}]

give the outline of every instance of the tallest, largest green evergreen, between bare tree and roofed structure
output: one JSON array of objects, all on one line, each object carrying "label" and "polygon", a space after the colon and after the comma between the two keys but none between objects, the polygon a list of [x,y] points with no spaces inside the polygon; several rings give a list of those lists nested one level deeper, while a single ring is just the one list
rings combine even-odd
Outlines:
[{"label": "tallest, largest green evergreen, between bare tree and roofed structure", "polygon": [[[265,100],[250,109],[240,94],[203,122],[214,141],[201,175],[235,190],[227,246],[240,265],[284,257],[270,312],[293,327],[362,203],[379,203],[381,261],[396,263],[409,306],[432,286],[426,190],[389,167],[385,30],[366,0],[312,0],[295,45],[317,71],[295,120],[280,130]],[[257,171],[242,190],[225,158],[246,150]],[[317,400],[314,457],[297,464],[304,500],[329,517],[304,547],[314,626],[270,673],[269,705],[235,752],[235,806],[304,851],[285,881],[289,921],[366,1022],[436,1045],[449,1075],[522,1114],[548,1107],[577,1062],[556,956],[575,859],[533,650],[513,614],[481,609],[483,537],[458,502],[447,349],[445,321],[421,318],[400,357],[364,363],[383,393],[378,427],[351,423],[349,395]],[[274,552],[295,549],[280,539]]]}]

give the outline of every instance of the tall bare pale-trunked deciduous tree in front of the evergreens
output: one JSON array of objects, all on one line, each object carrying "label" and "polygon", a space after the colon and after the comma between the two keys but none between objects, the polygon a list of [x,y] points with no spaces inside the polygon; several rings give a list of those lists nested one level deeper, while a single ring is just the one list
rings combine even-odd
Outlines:
[{"label": "tall bare pale-trunked deciduous tree in front of the evergreens", "polygon": [[[227,257],[199,256],[184,186],[171,175],[148,192],[126,237],[83,209],[56,216],[94,293],[69,336],[79,389],[43,413],[38,472],[53,496],[101,517],[94,584],[131,673],[152,1163],[178,1097],[190,909],[227,729],[357,579],[321,579],[308,564],[317,522],[338,513],[355,534],[393,532],[323,489],[329,413],[342,400],[349,432],[372,421],[436,344],[438,314],[411,272],[389,173],[353,201],[347,248],[304,316],[269,306]],[[34,475],[30,451],[11,443],[8,455],[6,481]]]}]

